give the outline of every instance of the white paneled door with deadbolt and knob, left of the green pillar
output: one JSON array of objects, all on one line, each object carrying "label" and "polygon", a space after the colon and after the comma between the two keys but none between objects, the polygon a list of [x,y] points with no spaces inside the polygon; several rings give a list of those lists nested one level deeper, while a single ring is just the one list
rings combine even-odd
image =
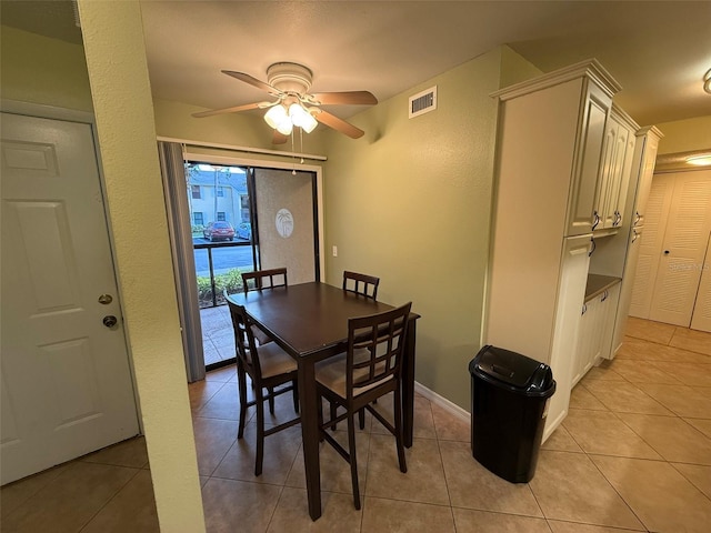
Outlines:
[{"label": "white paneled door with deadbolt and knob, left of the green pillar", "polygon": [[4,484],[139,428],[92,127],[1,127]]}]

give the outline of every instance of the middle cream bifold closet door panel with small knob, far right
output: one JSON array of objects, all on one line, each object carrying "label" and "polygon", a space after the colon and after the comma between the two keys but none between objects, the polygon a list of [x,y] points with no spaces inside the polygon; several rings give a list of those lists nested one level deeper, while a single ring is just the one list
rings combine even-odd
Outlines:
[{"label": "middle cream bifold closet door panel with small knob, far right", "polygon": [[711,171],[669,177],[674,180],[674,193],[649,318],[688,328],[711,231]]}]

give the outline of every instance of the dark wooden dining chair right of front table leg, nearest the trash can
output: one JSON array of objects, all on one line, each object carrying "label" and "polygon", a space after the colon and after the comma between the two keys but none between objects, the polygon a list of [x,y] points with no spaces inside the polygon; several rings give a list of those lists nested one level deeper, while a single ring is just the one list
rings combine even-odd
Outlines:
[{"label": "dark wooden dining chair right of front table leg, nearest the trash can", "polygon": [[[391,311],[348,320],[348,350],[316,365],[319,398],[324,398],[346,411],[323,421],[323,406],[319,401],[319,433],[350,463],[353,503],[360,509],[358,461],[356,457],[357,412],[367,409],[395,438],[400,472],[407,472],[402,435],[402,399],[400,382],[408,315],[412,302]],[[392,392],[393,423],[390,423],[371,402]],[[327,431],[334,423],[348,422],[348,450]]]}]

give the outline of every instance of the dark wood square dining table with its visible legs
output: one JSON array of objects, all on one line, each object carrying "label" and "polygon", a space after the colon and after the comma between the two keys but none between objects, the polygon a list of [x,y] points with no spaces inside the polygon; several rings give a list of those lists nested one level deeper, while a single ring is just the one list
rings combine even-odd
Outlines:
[{"label": "dark wood square dining table with its visible legs", "polygon": [[[346,351],[349,318],[389,311],[393,305],[320,282],[230,294],[228,299],[243,305],[257,325],[297,361],[309,514],[317,520],[321,516],[321,473],[314,365]],[[419,318],[419,314],[410,313],[402,368],[402,422],[407,447],[412,446],[414,344]]]}]

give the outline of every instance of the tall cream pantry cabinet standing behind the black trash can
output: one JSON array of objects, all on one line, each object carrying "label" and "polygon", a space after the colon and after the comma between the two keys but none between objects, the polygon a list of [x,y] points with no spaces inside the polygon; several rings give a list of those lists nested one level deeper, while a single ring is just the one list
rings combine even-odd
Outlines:
[{"label": "tall cream pantry cabinet standing behind the black trash can", "polygon": [[543,439],[568,413],[604,124],[618,90],[588,61],[493,94],[500,119],[482,340],[550,364],[558,386]]}]

